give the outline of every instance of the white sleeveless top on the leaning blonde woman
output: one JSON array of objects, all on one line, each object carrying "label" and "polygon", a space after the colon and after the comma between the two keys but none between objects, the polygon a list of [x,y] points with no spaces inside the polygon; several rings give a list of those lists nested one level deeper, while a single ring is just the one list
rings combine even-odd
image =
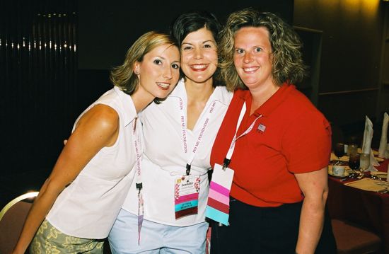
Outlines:
[{"label": "white sleeveless top on the leaning blonde woman", "polygon": [[108,236],[134,179],[134,138],[141,131],[140,127],[136,128],[137,132],[133,134],[132,122],[137,111],[132,98],[120,88],[115,86],[104,93],[80,117],[96,104],[109,105],[119,115],[117,141],[113,146],[101,149],[89,161],[57,197],[46,217],[62,233],[79,238]]}]

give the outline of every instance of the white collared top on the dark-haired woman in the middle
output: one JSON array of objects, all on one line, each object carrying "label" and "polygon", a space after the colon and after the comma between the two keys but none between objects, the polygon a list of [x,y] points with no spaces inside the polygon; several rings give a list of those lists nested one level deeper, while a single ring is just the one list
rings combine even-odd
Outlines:
[{"label": "white collared top on the dark-haired woman in the middle", "polygon": [[[232,96],[233,93],[229,93],[225,87],[215,88],[193,130],[186,129],[186,153],[182,140],[182,117],[187,119],[187,94],[182,79],[166,100],[158,105],[149,105],[139,114],[144,137],[141,161],[144,219],[170,226],[191,226],[205,221],[209,190],[207,173],[211,168],[209,157]],[[204,129],[191,167],[191,174],[200,176],[198,214],[175,219],[175,179],[185,174],[190,151],[202,133],[204,120],[207,119],[206,112],[212,107],[213,113]],[[138,214],[137,193],[134,181],[122,207],[132,214]]]}]

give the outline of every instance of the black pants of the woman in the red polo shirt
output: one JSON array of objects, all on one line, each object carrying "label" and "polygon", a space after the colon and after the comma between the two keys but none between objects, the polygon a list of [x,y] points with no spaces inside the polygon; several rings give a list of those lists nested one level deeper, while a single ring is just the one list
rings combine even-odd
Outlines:
[{"label": "black pants of the woman in the red polo shirt", "polygon": [[[231,198],[230,226],[212,225],[211,253],[294,254],[301,213],[300,203],[253,207]],[[336,253],[330,217],[325,216],[315,253]]]}]

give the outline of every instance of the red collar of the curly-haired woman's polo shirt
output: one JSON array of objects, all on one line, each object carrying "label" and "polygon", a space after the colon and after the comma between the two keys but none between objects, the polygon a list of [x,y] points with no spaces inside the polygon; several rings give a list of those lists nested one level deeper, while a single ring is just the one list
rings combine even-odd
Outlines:
[{"label": "red collar of the curly-haired woman's polo shirt", "polygon": [[[255,110],[255,115],[262,115],[262,116],[268,116],[270,115],[273,110],[275,110],[281,103],[288,98],[289,94],[292,91],[296,90],[296,86],[289,85],[287,83],[283,83],[282,86],[270,97],[265,103],[263,103],[260,108],[257,108]],[[242,99],[245,101],[250,101],[251,105],[251,93],[250,91],[247,91],[243,94]]]}]

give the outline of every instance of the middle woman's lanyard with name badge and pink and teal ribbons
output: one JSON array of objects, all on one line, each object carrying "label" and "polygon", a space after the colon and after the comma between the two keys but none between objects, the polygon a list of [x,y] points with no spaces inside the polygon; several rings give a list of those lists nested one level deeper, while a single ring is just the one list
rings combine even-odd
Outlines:
[{"label": "middle woman's lanyard with name badge and pink and teal ribbons", "polygon": [[[199,144],[202,141],[204,132],[208,127],[209,120],[214,108],[216,101],[211,103],[209,110],[204,115],[204,123],[200,130],[199,136],[194,142],[194,146],[190,156],[187,160],[185,175],[175,179],[174,185],[174,204],[175,204],[175,219],[180,219],[187,215],[193,215],[198,213],[199,207],[199,190],[200,190],[200,175],[191,175],[190,166],[194,160]],[[185,108],[183,107],[182,99],[180,98],[180,111],[181,111],[181,129],[182,129],[182,148],[187,154],[187,129],[185,120]]]}]

